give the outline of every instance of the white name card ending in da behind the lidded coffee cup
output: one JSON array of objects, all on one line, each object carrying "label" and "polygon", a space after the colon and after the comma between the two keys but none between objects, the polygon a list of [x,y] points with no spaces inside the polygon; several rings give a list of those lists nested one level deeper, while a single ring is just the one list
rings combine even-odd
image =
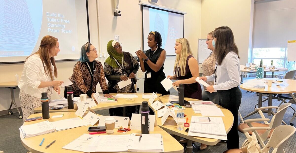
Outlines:
[{"label": "white name card ending in da behind the lidded coffee cup", "polygon": [[129,117],[123,116],[100,116],[99,125],[98,126],[105,126],[105,118],[112,117],[115,118],[115,128],[119,128],[122,126],[123,128],[127,128],[129,124],[131,124]]}]

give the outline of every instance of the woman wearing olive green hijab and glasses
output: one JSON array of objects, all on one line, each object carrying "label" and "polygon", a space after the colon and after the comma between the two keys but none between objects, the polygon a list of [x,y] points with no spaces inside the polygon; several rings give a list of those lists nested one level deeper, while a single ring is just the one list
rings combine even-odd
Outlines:
[{"label": "woman wearing olive green hijab and glasses", "polygon": [[[136,72],[139,69],[139,62],[131,53],[122,51],[122,44],[116,40],[110,40],[107,44],[107,52],[110,55],[104,64],[104,73],[108,80],[108,89],[110,93],[136,92],[135,84],[137,82]],[[119,88],[118,82],[131,79],[131,84]],[[139,113],[139,106],[126,107],[126,114],[123,114],[122,108],[109,109],[111,116],[129,116],[132,113]]]}]

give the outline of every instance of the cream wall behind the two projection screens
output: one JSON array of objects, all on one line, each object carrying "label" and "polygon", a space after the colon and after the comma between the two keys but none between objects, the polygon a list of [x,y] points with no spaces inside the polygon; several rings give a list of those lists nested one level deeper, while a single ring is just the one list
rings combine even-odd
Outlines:
[{"label": "cream wall behind the two projection screens", "polygon": [[[147,1],[147,0],[145,0]],[[184,16],[184,37],[190,42],[194,56],[197,56],[197,39],[201,33],[201,0],[159,0],[158,5],[186,11]],[[123,51],[135,55],[135,51],[142,46],[142,14],[138,0],[120,0],[119,8],[121,17],[114,17],[113,0],[89,0],[89,23],[91,43],[99,48],[100,53],[106,53],[107,42],[119,35],[120,43],[123,43]],[[202,37],[204,38],[204,37]],[[146,41],[144,41],[146,43]],[[174,47],[174,46],[172,46]],[[102,63],[106,58],[98,58]],[[168,56],[165,61],[165,74],[173,73],[172,64],[175,56]],[[58,77],[56,80],[64,80],[72,75],[76,61],[57,62]],[[0,82],[15,80],[15,74],[21,76],[23,64],[0,65]],[[61,91],[63,93],[63,89]],[[15,91],[15,100],[19,104],[19,89]],[[52,98],[57,98],[53,95]],[[0,88],[0,111],[8,110],[10,105],[10,91]],[[14,106],[12,108],[15,108]]]}]

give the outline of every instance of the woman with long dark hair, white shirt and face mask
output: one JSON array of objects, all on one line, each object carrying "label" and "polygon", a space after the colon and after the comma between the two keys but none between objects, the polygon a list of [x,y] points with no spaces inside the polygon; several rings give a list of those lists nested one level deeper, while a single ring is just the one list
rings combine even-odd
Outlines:
[{"label": "woman with long dark hair, white shirt and face mask", "polygon": [[202,76],[204,81],[214,81],[214,85],[207,87],[212,93],[217,91],[221,106],[233,114],[233,126],[227,134],[227,149],[239,148],[239,134],[237,130],[238,110],[242,101],[239,89],[240,67],[239,53],[234,42],[234,36],[229,27],[218,27],[213,32],[213,53],[217,59],[215,72],[210,76]]}]

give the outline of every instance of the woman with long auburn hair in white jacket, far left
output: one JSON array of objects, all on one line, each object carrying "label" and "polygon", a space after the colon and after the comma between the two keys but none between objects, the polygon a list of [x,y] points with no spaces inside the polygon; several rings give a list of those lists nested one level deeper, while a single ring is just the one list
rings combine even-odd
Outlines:
[{"label": "woman with long auburn hair in white jacket, far left", "polygon": [[26,58],[18,84],[23,121],[34,113],[33,108],[41,107],[42,92],[47,92],[49,99],[52,90],[60,94],[59,86],[64,82],[54,81],[57,77],[54,56],[59,51],[58,39],[47,35],[42,38],[38,51]]}]

